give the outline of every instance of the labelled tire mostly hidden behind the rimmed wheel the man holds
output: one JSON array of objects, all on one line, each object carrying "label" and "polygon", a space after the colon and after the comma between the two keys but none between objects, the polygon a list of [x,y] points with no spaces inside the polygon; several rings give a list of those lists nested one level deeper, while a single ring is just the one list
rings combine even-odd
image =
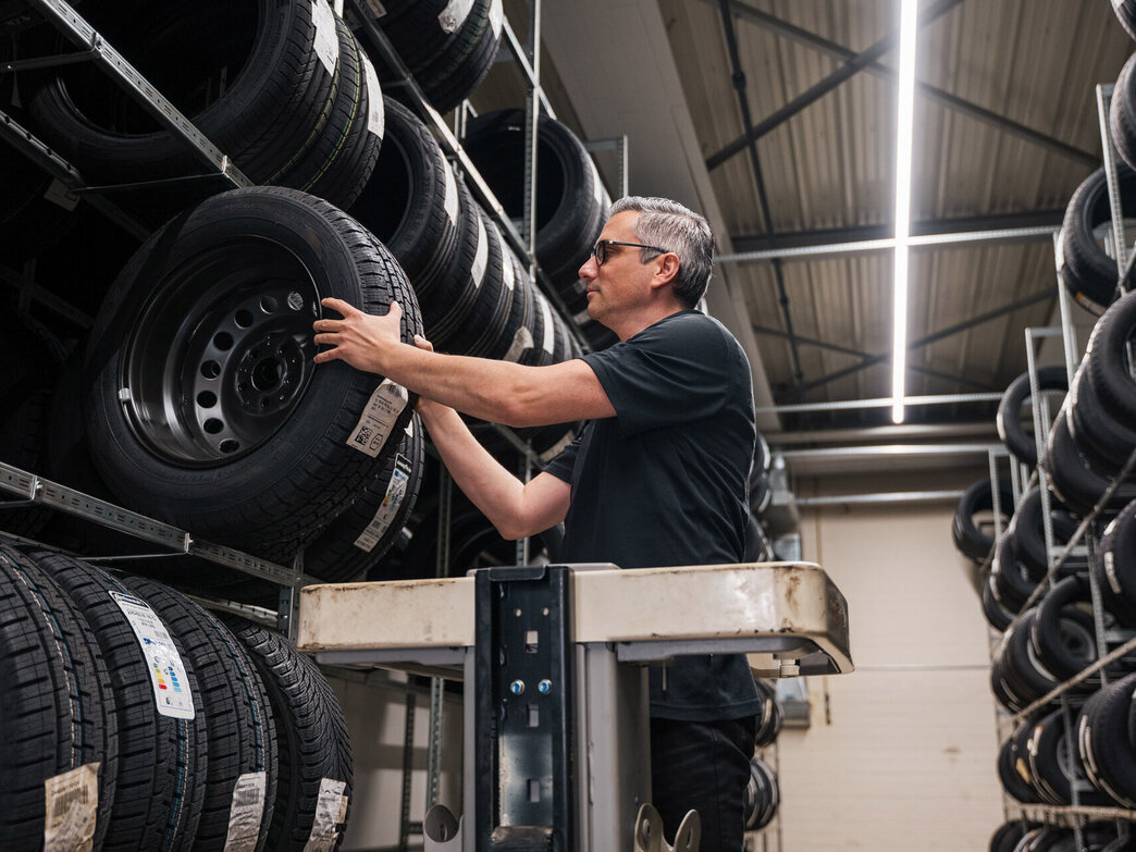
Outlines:
[{"label": "labelled tire mostly hidden behind the rimmed wheel the man holds", "polygon": [[414,417],[379,475],[308,548],[304,571],[344,583],[378,565],[415,509],[425,463],[423,425]]}]

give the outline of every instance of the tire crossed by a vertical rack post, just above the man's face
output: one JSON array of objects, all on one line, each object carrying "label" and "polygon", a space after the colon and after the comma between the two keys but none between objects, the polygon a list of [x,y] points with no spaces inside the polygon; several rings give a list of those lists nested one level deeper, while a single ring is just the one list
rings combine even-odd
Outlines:
[{"label": "tire crossed by a vertical rack post, just above the man's face", "polygon": [[[525,111],[502,110],[469,123],[465,147],[506,212],[524,212]],[[603,229],[610,199],[584,145],[559,122],[541,117],[537,131],[536,259],[569,310],[586,307],[574,290],[577,272]]]}]

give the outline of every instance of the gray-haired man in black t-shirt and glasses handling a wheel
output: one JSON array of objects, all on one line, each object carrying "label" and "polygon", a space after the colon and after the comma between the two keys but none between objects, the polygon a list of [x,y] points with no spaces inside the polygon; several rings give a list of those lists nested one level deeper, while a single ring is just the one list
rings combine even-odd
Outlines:
[{"label": "gray-haired man in black t-shirt and glasses handling a wheel", "polygon": [[[566,562],[623,568],[743,561],[753,457],[750,367],[737,341],[695,310],[710,281],[701,216],[665,199],[618,201],[580,267],[587,312],[619,337],[549,367],[434,353],[385,317],[335,299],[343,319],[315,341],[421,400],[418,411],[466,495],[506,538],[565,521]],[[458,411],[508,426],[590,420],[532,482],[502,468]],[[691,605],[698,605],[692,601]],[[703,851],[742,849],[758,698],[742,655],[678,658],[651,671],[652,800],[674,837],[691,808]]]}]

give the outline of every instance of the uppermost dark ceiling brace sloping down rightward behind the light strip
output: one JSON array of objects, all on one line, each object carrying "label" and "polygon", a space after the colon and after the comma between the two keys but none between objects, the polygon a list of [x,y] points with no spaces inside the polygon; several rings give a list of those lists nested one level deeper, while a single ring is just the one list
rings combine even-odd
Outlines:
[{"label": "uppermost dark ceiling brace sloping down rightward behind the light strip", "polygon": [[[703,0],[703,2],[716,6],[718,0]],[[837,44],[836,42],[829,41],[828,39],[817,35],[816,33],[811,33],[808,30],[794,26],[787,20],[775,17],[769,12],[754,9],[752,6],[749,6],[741,0],[728,0],[728,2],[730,11],[743,20],[749,20],[752,24],[757,24],[760,27],[775,32],[778,35],[783,35],[786,39],[791,39],[800,44],[804,44],[805,47],[830,56],[834,59],[838,59],[842,62],[847,62],[857,56],[854,50],[850,50],[843,44]],[[889,82],[895,80],[895,70],[888,68],[886,65],[882,65],[880,62],[870,62],[864,66],[863,70]],[[992,127],[1005,131],[1006,133],[1013,134],[1028,142],[1033,142],[1034,144],[1041,145],[1050,151],[1081,162],[1091,168],[1096,168],[1101,165],[1101,157],[1097,153],[1085,151],[1076,145],[1070,145],[1068,142],[1062,142],[1054,136],[1035,131],[1033,127],[1027,127],[1026,125],[1014,122],[1011,118],[999,115],[997,112],[986,109],[985,107],[979,107],[977,103],[959,98],[936,86],[917,82],[916,93],[927,98],[928,100],[935,101],[936,103],[942,103],[943,106],[958,112],[970,116],[971,118],[983,122]]]}]

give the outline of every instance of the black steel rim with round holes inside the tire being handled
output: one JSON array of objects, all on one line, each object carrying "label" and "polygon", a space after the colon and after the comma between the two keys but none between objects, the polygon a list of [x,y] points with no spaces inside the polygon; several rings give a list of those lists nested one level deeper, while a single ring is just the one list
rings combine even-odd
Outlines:
[{"label": "black steel rim with round holes inside the tire being handled", "polygon": [[167,270],[128,334],[119,401],[182,467],[229,463],[289,420],[311,381],[319,293],[275,242],[243,237]]}]

